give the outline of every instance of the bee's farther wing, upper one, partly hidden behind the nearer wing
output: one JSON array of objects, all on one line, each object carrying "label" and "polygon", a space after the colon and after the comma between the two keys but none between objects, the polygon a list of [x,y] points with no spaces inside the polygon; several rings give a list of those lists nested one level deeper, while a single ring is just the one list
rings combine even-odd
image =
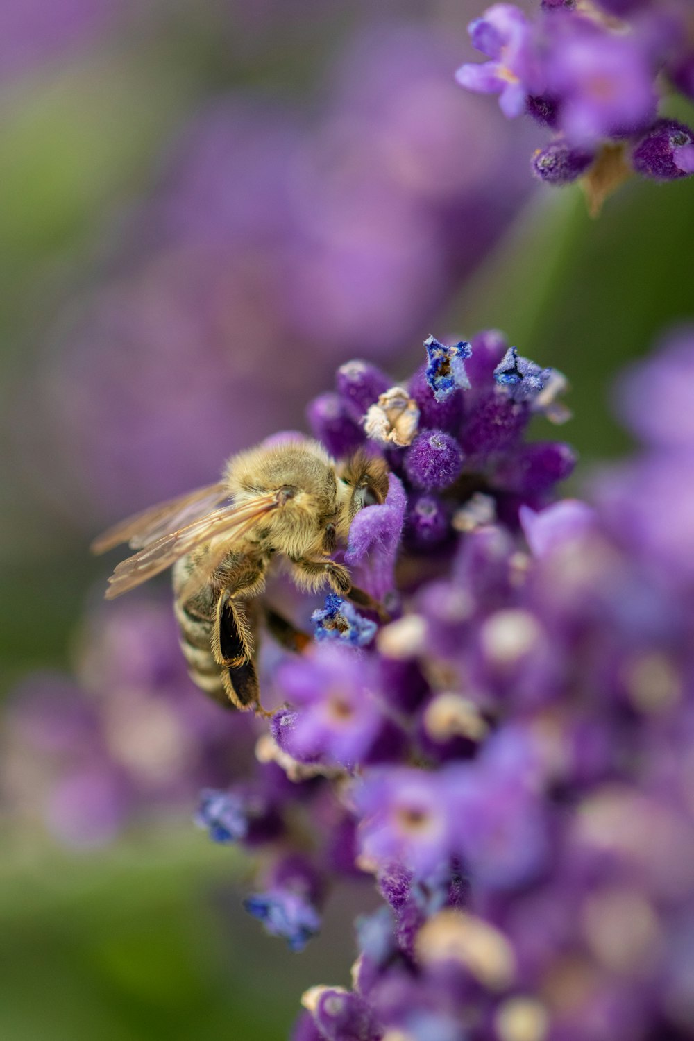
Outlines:
[{"label": "bee's farther wing, upper one, partly hidden behind the nearer wing", "polygon": [[95,538],[92,552],[105,553],[121,542],[129,542],[133,550],[142,550],[170,532],[191,524],[197,517],[204,517],[228,494],[225,482],[217,481],[216,484],[208,484],[196,491],[188,491],[185,496],[169,499],[158,506],[150,506],[142,513],[134,513],[113,525],[103,535]]}]

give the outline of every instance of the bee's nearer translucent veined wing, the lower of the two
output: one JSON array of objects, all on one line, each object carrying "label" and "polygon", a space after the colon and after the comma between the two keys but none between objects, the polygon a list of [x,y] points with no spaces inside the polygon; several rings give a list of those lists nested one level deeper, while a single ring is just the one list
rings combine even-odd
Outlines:
[{"label": "bee's nearer translucent veined wing, the lower of the two", "polygon": [[[222,509],[214,510],[212,513],[194,520],[192,524],[179,531],[164,535],[118,565],[108,580],[106,599],[113,600],[114,596],[120,596],[121,593],[134,589],[135,586],[154,578],[155,575],[171,567],[181,557],[192,553],[201,545],[217,538],[224,538],[223,547],[214,548],[209,555],[209,565],[206,568],[206,574],[209,575],[214,566],[224,559],[225,554],[229,552],[234,542],[247,535],[261,517],[272,510],[276,510],[279,506],[280,499],[277,492],[257,496],[241,506],[224,506]],[[217,550],[220,550],[219,553]],[[215,560],[213,565],[212,560]],[[202,581],[204,579],[201,580],[200,584]]]}]

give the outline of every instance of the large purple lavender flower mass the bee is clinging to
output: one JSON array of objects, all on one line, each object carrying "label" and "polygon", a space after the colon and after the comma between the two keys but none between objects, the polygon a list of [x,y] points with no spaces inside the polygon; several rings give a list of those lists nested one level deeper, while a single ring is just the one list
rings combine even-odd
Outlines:
[{"label": "large purple lavender flower mass the bee is clinging to", "polygon": [[[346,558],[391,620],[281,664],[286,704],[257,745],[261,769],[288,779],[272,813],[245,782],[205,793],[201,818],[256,852],[265,829],[247,907],[294,949],[331,885],[376,881],[383,905],[356,923],[352,988],[307,991],[294,1041],[685,1041],[694,330],[622,381],[648,448],[598,481],[595,506],[550,502],[570,452],[523,440],[533,412],[556,407],[560,374],[486,332],[437,397],[432,357],[460,359],[460,345],[426,346],[429,362],[394,388],[365,362],[343,366],[341,426],[310,409],[333,451],[339,430],[345,451],[361,440],[388,459],[388,499],[357,515]],[[402,399],[417,410],[400,431],[409,445],[383,436]],[[417,513],[432,473],[437,538]],[[361,631],[331,598],[316,625],[340,615]]]}]

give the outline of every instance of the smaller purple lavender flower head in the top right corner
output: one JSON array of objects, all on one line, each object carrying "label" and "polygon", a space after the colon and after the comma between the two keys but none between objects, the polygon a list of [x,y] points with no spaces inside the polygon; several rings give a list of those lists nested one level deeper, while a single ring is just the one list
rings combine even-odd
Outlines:
[{"label": "smaller purple lavender flower head in the top right corner", "polygon": [[659,181],[694,172],[694,131],[659,118],[664,82],[694,98],[688,0],[543,0],[534,20],[496,3],[469,33],[489,60],[461,66],[458,82],[554,131],[533,156],[541,180],[592,171],[603,191],[629,171]]}]

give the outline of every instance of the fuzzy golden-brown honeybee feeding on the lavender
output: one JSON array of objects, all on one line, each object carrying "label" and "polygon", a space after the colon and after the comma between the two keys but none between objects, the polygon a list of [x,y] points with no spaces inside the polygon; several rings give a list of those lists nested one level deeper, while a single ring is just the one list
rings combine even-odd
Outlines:
[{"label": "fuzzy golden-brown honeybee feeding on the lavender", "polygon": [[357,512],[382,503],[387,489],[382,459],[358,452],[336,463],[309,438],[271,441],[232,456],[216,484],[110,528],[92,550],[128,542],[137,551],[108,580],[107,600],[173,565],[174,611],[190,678],[227,706],[264,713],[256,669],[260,623],[291,650],[309,641],[262,602],[273,558],[284,558],[300,589],[328,585],[382,613],[331,556],[346,542]]}]

